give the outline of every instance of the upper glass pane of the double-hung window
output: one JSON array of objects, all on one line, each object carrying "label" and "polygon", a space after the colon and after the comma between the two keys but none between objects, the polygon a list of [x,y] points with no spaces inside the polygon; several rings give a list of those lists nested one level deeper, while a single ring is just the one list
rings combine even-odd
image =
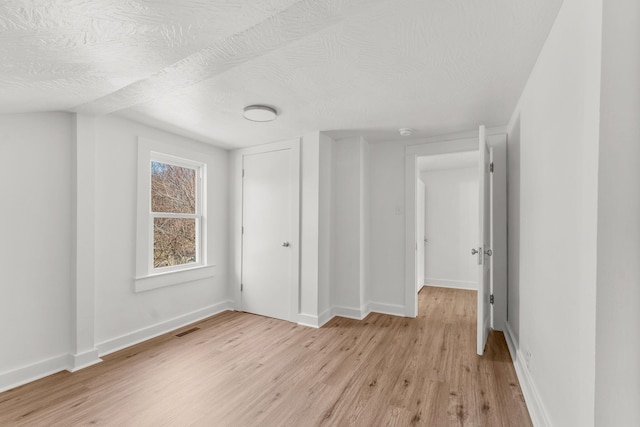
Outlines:
[{"label": "upper glass pane of the double-hung window", "polygon": [[151,211],[196,213],[196,171],[151,162]]}]

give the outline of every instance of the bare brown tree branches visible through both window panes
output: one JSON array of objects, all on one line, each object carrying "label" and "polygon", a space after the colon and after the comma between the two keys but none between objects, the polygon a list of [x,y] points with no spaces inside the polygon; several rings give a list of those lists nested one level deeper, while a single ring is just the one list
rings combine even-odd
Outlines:
[{"label": "bare brown tree branches visible through both window panes", "polygon": [[[196,170],[151,162],[151,210],[154,213],[196,213]],[[153,219],[153,266],[196,262],[196,219]]]}]

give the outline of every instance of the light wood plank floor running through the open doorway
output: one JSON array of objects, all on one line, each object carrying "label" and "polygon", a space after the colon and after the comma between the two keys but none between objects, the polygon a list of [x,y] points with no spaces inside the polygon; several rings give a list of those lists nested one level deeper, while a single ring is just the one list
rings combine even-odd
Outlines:
[{"label": "light wood plank floor running through the open doorway", "polygon": [[0,394],[0,426],[530,426],[503,335],[475,354],[475,307],[425,287],[416,319],[222,313]]}]

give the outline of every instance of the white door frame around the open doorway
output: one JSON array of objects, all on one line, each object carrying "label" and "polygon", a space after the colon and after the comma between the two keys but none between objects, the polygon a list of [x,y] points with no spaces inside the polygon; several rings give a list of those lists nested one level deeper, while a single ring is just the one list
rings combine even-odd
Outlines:
[{"label": "white door frame around the open doorway", "polygon": [[[496,159],[498,164],[502,164],[505,168],[500,171],[501,181],[500,185],[505,186],[506,189],[506,129],[504,127],[487,128],[486,137],[490,146],[503,146],[498,158]],[[418,315],[418,295],[415,292],[416,284],[416,197],[417,197],[417,185],[418,179],[418,157],[431,156],[436,154],[448,154],[457,153],[462,151],[478,151],[478,131],[465,132],[457,135],[451,135],[448,138],[434,137],[429,138],[426,141],[416,145],[408,145],[405,147],[405,274],[404,274],[404,304],[405,304],[405,316],[416,317]],[[504,163],[503,163],[504,162]],[[494,175],[495,176],[495,175]],[[500,187],[501,188],[501,187]],[[501,190],[502,191],[502,188]],[[506,200],[506,199],[502,199]],[[493,203],[492,203],[493,205]],[[494,249],[494,256],[492,259],[493,266],[497,267],[497,273],[500,274],[504,280],[498,280],[497,282],[492,278],[492,292],[495,294],[496,304],[493,306],[493,315],[491,325],[494,329],[503,330],[504,323],[507,318],[507,283],[506,283],[506,204],[504,206],[504,213],[500,213],[499,216],[494,217],[492,213],[492,220],[497,220],[497,224],[494,227],[500,231],[497,241],[492,241]],[[503,223],[504,222],[504,223]],[[503,250],[499,250],[503,248]],[[500,253],[502,252],[502,253]],[[495,264],[498,262],[498,265]],[[501,267],[505,271],[501,271]]]}]

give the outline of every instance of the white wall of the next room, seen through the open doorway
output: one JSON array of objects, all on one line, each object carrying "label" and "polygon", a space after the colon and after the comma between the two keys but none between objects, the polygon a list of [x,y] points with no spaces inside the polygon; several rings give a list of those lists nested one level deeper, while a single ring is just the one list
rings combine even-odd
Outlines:
[{"label": "white wall of the next room, seen through the open doorway", "polygon": [[470,251],[478,241],[478,168],[424,171],[420,179],[428,240],[424,283],[477,289],[477,258]]}]

